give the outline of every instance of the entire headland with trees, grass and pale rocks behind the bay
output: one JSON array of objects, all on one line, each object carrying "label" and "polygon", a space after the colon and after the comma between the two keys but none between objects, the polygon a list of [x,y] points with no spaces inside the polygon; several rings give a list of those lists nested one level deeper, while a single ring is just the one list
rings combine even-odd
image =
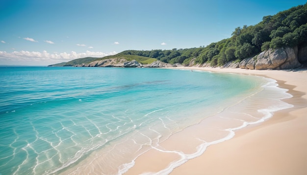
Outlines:
[{"label": "entire headland with trees, grass and pale rocks behind the bay", "polygon": [[236,27],[232,36],[208,46],[172,50],[126,50],[50,66],[229,67],[293,69],[307,63],[307,3],[265,16],[256,25]]}]

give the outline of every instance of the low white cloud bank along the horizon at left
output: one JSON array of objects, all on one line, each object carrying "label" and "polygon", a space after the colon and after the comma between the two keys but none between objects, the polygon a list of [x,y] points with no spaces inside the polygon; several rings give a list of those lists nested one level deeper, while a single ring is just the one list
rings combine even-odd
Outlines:
[{"label": "low white cloud bank along the horizon at left", "polygon": [[116,54],[116,51],[103,53],[103,52],[94,52],[94,51],[86,51],[77,53],[76,51],[71,51],[70,53],[48,53],[46,50],[43,52],[39,51],[13,51],[6,52],[0,51],[0,64],[8,64],[11,62],[12,64],[16,64],[17,62],[21,62],[22,64],[28,65],[49,65],[53,63],[67,62],[77,58],[83,57],[103,57],[108,55]]}]

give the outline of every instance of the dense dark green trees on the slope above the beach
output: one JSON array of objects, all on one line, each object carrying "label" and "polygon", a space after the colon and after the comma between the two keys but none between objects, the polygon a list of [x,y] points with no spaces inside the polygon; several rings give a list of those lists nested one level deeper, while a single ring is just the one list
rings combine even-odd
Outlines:
[{"label": "dense dark green trees on the slope above the beach", "polygon": [[120,54],[131,54],[156,58],[166,63],[189,64],[210,63],[224,65],[229,61],[241,61],[270,48],[284,46],[299,49],[307,45],[307,3],[265,16],[256,25],[237,27],[228,39],[211,43],[206,47],[173,50],[127,50]]}]

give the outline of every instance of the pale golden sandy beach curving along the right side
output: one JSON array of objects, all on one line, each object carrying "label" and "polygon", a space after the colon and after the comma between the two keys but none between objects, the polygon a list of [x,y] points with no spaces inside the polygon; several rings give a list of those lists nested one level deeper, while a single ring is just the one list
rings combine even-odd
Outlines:
[{"label": "pale golden sandy beach curving along the right side", "polygon": [[[306,70],[184,69],[276,79],[281,88],[289,89],[288,93],[293,95],[285,101],[294,107],[275,112],[272,118],[261,124],[237,130],[232,139],[209,146],[201,156],[175,168],[171,175],[307,175]],[[180,139],[180,142],[185,140]],[[159,156],[151,150],[138,157],[125,175],[156,172],[173,159],[176,159],[173,155]]]}]

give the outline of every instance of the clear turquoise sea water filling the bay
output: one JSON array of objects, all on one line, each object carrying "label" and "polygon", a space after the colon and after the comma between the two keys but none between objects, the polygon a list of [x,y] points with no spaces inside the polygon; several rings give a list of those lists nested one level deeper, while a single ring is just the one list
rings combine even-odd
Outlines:
[{"label": "clear turquoise sea water filling the bay", "polygon": [[117,160],[118,152],[130,155],[114,150],[123,140],[142,145],[140,133],[167,139],[265,83],[183,70],[0,67],[0,174],[57,174],[103,149],[113,150],[114,160],[102,167],[117,173],[135,158]]}]

